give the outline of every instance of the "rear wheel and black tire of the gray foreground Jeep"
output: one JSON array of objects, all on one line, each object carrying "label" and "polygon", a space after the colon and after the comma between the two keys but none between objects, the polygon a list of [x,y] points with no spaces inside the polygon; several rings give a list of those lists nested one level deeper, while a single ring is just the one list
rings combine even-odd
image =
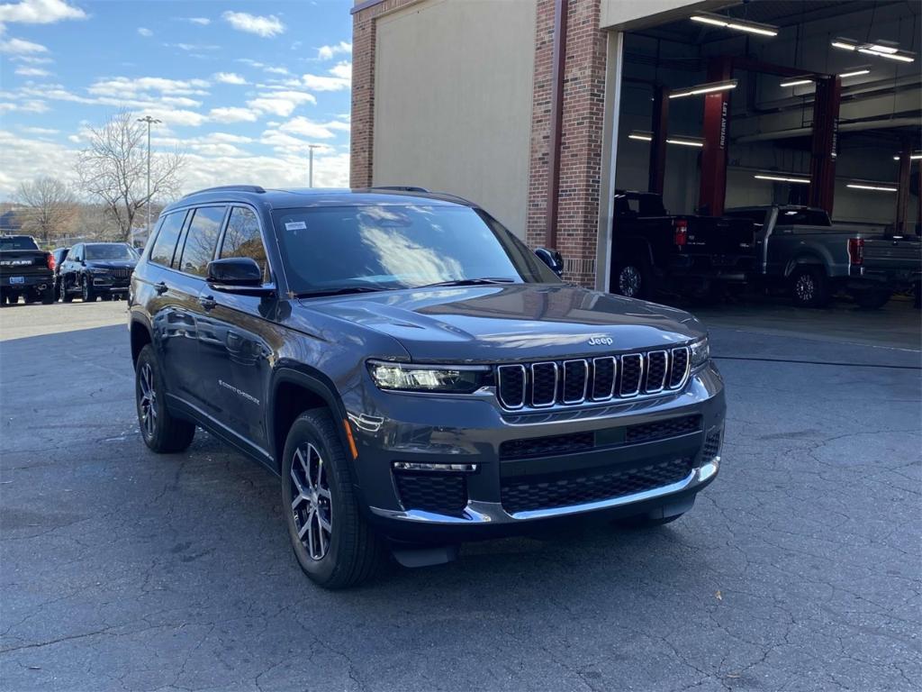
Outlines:
[{"label": "rear wheel and black tire of the gray foreground Jeep", "polygon": [[151,450],[174,454],[192,444],[195,424],[176,418],[167,409],[160,364],[149,343],[141,349],[135,364],[135,402],[141,436]]}]

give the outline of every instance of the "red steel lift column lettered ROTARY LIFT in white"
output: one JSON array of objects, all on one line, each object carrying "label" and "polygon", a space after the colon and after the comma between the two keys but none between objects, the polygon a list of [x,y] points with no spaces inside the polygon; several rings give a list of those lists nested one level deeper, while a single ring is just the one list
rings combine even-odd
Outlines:
[{"label": "red steel lift column lettered ROTARY LIFT in white", "polygon": [[[707,67],[708,82],[732,78],[733,67],[726,57],[717,58]],[[698,208],[721,216],[727,197],[727,145],[730,129],[730,90],[704,95],[704,148],[701,154],[701,192]]]}]

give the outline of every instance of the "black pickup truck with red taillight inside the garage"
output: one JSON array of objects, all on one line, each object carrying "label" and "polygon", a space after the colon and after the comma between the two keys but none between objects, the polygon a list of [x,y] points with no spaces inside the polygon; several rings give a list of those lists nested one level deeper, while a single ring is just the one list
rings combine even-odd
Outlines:
[{"label": "black pickup truck with red taillight inside the garage", "polygon": [[655,193],[616,191],[611,239],[611,290],[629,298],[708,294],[753,264],[751,220],[669,215]]}]

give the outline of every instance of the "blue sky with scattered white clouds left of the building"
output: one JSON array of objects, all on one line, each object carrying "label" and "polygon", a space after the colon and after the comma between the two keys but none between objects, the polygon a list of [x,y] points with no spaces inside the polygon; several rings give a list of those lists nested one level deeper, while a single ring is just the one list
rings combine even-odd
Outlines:
[{"label": "blue sky with scattered white clouds left of the building", "polygon": [[72,179],[89,126],[163,121],[183,189],[349,178],[349,0],[0,0],[0,199]]}]

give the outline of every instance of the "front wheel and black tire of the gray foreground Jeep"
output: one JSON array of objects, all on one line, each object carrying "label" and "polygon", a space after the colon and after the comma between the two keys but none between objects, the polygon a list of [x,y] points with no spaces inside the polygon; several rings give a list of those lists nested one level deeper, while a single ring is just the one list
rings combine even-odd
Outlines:
[{"label": "front wheel and black tire of the gray foreground Jeep", "polygon": [[384,542],[361,516],[350,459],[329,412],[301,413],[284,454],[282,512],[304,574],[331,590],[372,579],[384,562]]}]

